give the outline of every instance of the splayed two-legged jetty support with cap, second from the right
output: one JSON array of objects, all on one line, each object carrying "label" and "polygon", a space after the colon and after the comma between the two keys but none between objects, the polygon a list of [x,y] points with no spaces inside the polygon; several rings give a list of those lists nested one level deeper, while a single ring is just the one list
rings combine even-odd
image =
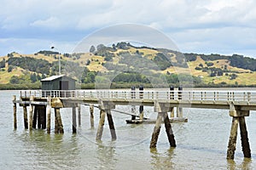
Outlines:
[{"label": "splayed two-legged jetty support with cap, second from the right", "polygon": [[171,126],[171,123],[170,123],[170,120],[169,120],[169,117],[167,114],[167,112],[170,111],[170,105],[155,102],[154,103],[154,111],[158,112],[158,116],[157,116],[157,119],[155,122],[154,132],[152,133],[150,148],[156,147],[157,139],[158,139],[158,136],[160,133],[161,122],[162,122],[163,118],[164,118],[164,122],[165,122],[166,134],[167,134],[169,143],[172,147],[176,147],[176,142],[174,139],[172,126]]}]

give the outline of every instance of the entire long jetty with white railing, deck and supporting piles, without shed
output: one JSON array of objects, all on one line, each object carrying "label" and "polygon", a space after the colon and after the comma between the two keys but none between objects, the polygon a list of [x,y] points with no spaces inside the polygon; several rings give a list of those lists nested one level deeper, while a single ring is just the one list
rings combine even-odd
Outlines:
[{"label": "entire long jetty with white railing, deck and supporting piles, without shed", "polygon": [[[183,117],[183,108],[206,108],[224,109],[230,111],[232,125],[228,144],[227,158],[234,159],[236,150],[237,127],[240,126],[241,144],[245,157],[251,157],[251,151],[247,138],[247,127],[245,116],[250,115],[250,111],[256,111],[256,92],[241,91],[171,91],[171,90],[50,90],[50,91],[20,91],[20,99],[14,96],[14,122],[16,128],[16,104],[24,108],[25,127],[32,129],[37,124],[38,127],[45,128],[49,132],[50,109],[55,109],[55,133],[63,133],[61,122],[61,108],[73,108],[73,132],[76,132],[76,107],[79,105],[98,105],[101,110],[101,118],[97,128],[96,140],[102,139],[102,130],[105,116],[108,117],[108,124],[112,139],[116,139],[111,110],[115,105],[139,105],[140,120],[143,121],[143,106],[153,106],[157,114],[154,132],[150,142],[150,148],[156,147],[158,135],[160,133],[161,122],[165,123],[166,133],[172,147],[176,146],[172,126],[167,112],[171,112],[174,117],[174,108],[177,108],[177,117]],[[30,107],[30,121],[28,126],[26,106]],[[47,110],[47,111],[46,111]],[[47,126],[46,126],[47,112]],[[90,106],[91,124],[93,124],[93,107]],[[39,118],[37,118],[40,117]],[[80,117],[80,112],[79,112]],[[43,121],[42,121],[43,120]],[[80,118],[79,118],[80,124]]]}]

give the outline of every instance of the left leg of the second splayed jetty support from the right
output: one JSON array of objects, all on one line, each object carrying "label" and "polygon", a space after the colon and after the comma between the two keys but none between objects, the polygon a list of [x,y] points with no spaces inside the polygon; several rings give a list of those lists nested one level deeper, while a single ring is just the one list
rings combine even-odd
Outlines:
[{"label": "left leg of the second splayed jetty support from the right", "polygon": [[158,113],[157,115],[157,119],[155,122],[155,126],[154,126],[154,132],[152,133],[152,138],[150,141],[150,148],[155,148],[156,144],[157,144],[157,139],[160,133],[160,128],[161,128],[161,122],[162,122],[163,116],[162,113]]}]

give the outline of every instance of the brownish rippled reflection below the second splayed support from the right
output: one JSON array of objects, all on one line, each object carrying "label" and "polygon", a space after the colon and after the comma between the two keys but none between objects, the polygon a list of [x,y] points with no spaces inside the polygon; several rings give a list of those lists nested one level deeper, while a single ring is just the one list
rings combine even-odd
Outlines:
[{"label": "brownish rippled reflection below the second splayed support from the right", "polygon": [[157,149],[150,149],[151,152],[151,165],[154,169],[173,169],[174,163],[172,162],[173,150],[170,148],[164,154],[160,154]]}]

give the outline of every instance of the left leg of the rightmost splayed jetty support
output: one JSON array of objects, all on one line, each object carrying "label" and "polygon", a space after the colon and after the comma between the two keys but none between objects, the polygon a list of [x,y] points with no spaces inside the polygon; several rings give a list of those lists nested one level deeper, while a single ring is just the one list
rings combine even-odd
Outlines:
[{"label": "left leg of the rightmost splayed jetty support", "polygon": [[237,138],[237,127],[238,127],[239,117],[233,116],[232,126],[230,130],[230,141],[227,150],[227,159],[234,159],[236,150],[236,138]]}]

